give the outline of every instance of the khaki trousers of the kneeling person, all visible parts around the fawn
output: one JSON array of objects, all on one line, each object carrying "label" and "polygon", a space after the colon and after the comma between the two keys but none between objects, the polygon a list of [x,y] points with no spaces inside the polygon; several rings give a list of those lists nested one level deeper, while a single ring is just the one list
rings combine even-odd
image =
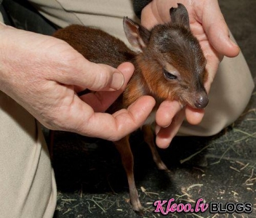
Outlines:
[{"label": "khaki trousers of the kneeling person, all visible parts around the fawn", "polygon": [[[42,15],[61,27],[91,25],[126,41],[122,19],[135,20],[132,1],[30,0]],[[126,41],[127,42],[127,41]],[[209,93],[204,120],[184,123],[179,134],[207,136],[220,132],[242,113],[254,84],[243,55],[224,58]],[[39,124],[0,92],[0,214],[2,217],[52,217],[55,177]]]}]

